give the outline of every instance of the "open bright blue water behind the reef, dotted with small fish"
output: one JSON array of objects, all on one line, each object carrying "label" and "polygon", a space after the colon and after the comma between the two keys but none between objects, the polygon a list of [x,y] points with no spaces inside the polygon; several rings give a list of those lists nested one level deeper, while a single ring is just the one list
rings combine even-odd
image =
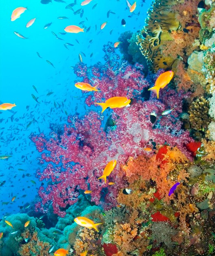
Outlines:
[{"label": "open bright blue water behind the reef, dotted with small fish", "polygon": [[[0,112],[0,155],[11,155],[7,160],[0,160],[0,218],[18,213],[20,207],[35,199],[40,182],[35,178],[39,166],[39,153],[29,139],[31,132],[49,133],[49,124],[63,124],[67,116],[78,111],[84,114],[89,109],[84,104],[82,92],[74,87],[78,81],[73,73],[73,66],[79,61],[82,52],[83,62],[88,67],[103,62],[102,47],[108,41],[115,43],[124,31],[136,32],[144,26],[146,11],[151,0],[137,1],[136,10],[129,12],[126,0],[93,0],[84,6],[84,15],[74,15],[70,9],[65,9],[73,1],[51,4],[41,4],[40,0],[11,0],[0,2],[0,101],[2,103],[16,103],[10,111]],[[77,0],[74,11],[82,8],[81,0]],[[97,3],[95,9],[93,5]],[[11,22],[11,13],[17,7],[27,7],[20,18]],[[107,18],[107,12],[111,10]],[[59,20],[58,16],[69,19]],[[130,16],[130,17],[129,17]],[[26,24],[36,18],[34,24],[26,28]],[[121,20],[126,20],[126,26]],[[84,21],[84,33],[59,35],[68,25],[78,25]],[[100,30],[100,25],[107,21],[107,25]],[[44,29],[44,25],[52,22]],[[79,25],[81,27],[81,25]],[[86,33],[86,29],[91,29]],[[97,29],[95,29],[97,26]],[[112,34],[110,31],[113,29]],[[19,38],[14,31],[28,39]],[[64,40],[58,40],[51,33]],[[78,42],[76,40],[78,40]],[[89,41],[92,40],[92,43]],[[64,47],[64,43],[74,46]],[[37,53],[42,58],[39,58]],[[90,55],[93,56],[90,58]],[[120,54],[119,49],[117,53]],[[53,68],[46,60],[53,63]],[[33,89],[35,86],[38,93]],[[47,93],[53,92],[50,96]],[[31,94],[38,97],[37,103]],[[22,169],[22,170],[18,170]],[[34,184],[33,182],[36,184]],[[11,202],[11,198],[16,199]]]}]

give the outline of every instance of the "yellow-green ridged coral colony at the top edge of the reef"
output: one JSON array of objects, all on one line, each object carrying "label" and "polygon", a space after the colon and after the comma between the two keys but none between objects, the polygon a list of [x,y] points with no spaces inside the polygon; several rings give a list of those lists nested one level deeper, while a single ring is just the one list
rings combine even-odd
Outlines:
[{"label": "yellow-green ridged coral colony at the top edge of the reef", "polygon": [[183,0],[155,1],[148,12],[147,25],[137,35],[137,45],[140,45],[142,54],[155,71],[159,68],[170,69],[175,61],[171,56],[162,56],[160,46],[165,41],[173,40],[170,31],[177,30],[180,26],[175,13],[171,11],[171,6],[180,2]]}]

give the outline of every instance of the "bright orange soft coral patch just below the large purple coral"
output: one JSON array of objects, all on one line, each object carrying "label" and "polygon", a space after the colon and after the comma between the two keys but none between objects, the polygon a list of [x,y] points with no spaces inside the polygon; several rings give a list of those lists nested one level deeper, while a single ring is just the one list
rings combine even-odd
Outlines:
[{"label": "bright orange soft coral patch just below the large purple coral", "polygon": [[[130,157],[126,165],[121,166],[121,168],[126,172],[126,176],[129,177],[129,182],[134,182],[140,176],[146,181],[154,180],[157,188],[159,188],[161,198],[165,196],[165,199],[168,201],[169,189],[178,179],[182,182],[188,177],[185,171],[182,171],[182,166],[180,166],[188,162],[188,159],[177,148],[167,148],[168,151],[162,159],[166,163],[162,164],[162,167],[160,167],[160,161],[156,160],[156,156],[148,158],[141,155],[136,159]],[[170,175],[171,178],[169,177]],[[122,195],[120,195],[120,198],[122,198]],[[146,199],[146,195],[140,195],[139,197],[133,195],[133,199],[136,204],[138,201]]]}]

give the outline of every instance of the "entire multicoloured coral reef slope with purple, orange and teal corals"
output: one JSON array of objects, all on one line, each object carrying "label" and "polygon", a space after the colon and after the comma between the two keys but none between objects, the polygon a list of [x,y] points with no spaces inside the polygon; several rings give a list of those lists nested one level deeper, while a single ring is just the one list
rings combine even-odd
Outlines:
[{"label": "entire multicoloured coral reef slope with purple, orange and teal corals", "polygon": [[[155,0],[148,14],[140,34],[120,36],[122,61],[109,42],[103,64],[74,67],[76,82],[100,89],[82,92],[88,107],[116,96],[130,106],[75,113],[49,135],[31,134],[44,218],[8,216],[14,229],[1,220],[2,255],[53,255],[53,245],[69,255],[214,255],[215,1]],[[148,89],[170,69],[157,99]],[[107,182],[98,180],[113,159]],[[102,225],[82,227],[77,216]]]}]

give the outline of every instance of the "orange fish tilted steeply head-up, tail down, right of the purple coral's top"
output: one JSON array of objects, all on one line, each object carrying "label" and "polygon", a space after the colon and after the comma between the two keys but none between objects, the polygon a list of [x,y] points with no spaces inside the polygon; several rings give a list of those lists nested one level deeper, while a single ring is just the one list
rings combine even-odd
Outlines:
[{"label": "orange fish tilted steeply head-up, tail down, right of the purple coral's top", "polygon": [[149,91],[155,92],[157,94],[157,99],[159,99],[160,88],[163,89],[166,85],[168,85],[168,83],[172,80],[173,75],[174,72],[171,70],[160,74],[160,76],[158,76],[157,80],[155,81],[155,86],[149,88]]}]

